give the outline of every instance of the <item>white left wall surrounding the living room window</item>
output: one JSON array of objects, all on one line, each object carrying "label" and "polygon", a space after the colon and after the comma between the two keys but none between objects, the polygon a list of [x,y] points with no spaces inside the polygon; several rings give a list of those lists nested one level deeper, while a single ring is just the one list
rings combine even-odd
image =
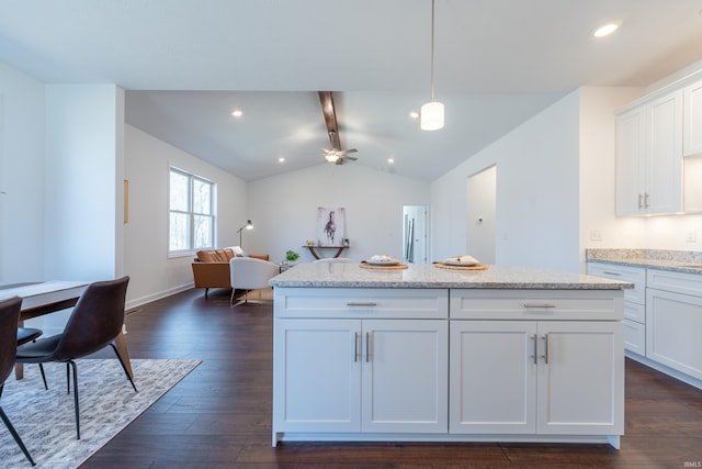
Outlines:
[{"label": "white left wall surrounding the living room window", "polygon": [[236,176],[126,125],[126,169],[129,220],[125,226],[125,271],[129,275],[127,306],[132,308],[193,284],[193,255],[168,257],[169,167],[177,166],[216,183],[217,246],[238,244],[236,230],[247,216],[247,186]]}]

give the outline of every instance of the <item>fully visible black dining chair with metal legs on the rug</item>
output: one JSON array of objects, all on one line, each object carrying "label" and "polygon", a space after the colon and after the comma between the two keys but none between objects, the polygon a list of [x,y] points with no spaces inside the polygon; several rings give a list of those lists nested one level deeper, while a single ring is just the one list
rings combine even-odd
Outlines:
[{"label": "fully visible black dining chair with metal legs on the rug", "polygon": [[[76,359],[93,354],[107,345],[112,346],[120,365],[134,391],[137,391],[132,377],[114,344],[124,324],[124,303],[129,277],[117,280],[100,281],[88,286],[66,323],[64,332],[18,347],[19,364],[42,364],[59,361],[66,364],[67,377],[72,368],[73,405],[76,409],[76,437],[80,439],[80,406],[78,402],[78,367]],[[42,377],[46,387],[44,369]],[[68,381],[70,392],[70,380]]]}]

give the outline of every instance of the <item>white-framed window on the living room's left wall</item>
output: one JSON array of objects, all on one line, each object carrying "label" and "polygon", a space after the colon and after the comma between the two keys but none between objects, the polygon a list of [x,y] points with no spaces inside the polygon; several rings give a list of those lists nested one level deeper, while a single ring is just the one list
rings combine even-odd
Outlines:
[{"label": "white-framed window on the living room's left wall", "polygon": [[169,191],[169,254],[214,247],[214,182],[171,168]]}]

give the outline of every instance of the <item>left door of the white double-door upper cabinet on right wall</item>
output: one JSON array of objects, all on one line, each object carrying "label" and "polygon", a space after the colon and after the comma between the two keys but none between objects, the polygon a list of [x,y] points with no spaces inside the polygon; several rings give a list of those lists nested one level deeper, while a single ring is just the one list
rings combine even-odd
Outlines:
[{"label": "left door of the white double-door upper cabinet on right wall", "polygon": [[644,108],[616,116],[616,214],[637,215],[643,209]]}]

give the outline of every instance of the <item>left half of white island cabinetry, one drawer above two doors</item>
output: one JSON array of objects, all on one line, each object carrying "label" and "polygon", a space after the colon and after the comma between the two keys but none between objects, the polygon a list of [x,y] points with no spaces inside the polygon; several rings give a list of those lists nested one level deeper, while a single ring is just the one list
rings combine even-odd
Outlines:
[{"label": "left half of white island cabinetry, one drawer above two doors", "polygon": [[306,290],[276,291],[274,432],[446,433],[448,291]]}]

